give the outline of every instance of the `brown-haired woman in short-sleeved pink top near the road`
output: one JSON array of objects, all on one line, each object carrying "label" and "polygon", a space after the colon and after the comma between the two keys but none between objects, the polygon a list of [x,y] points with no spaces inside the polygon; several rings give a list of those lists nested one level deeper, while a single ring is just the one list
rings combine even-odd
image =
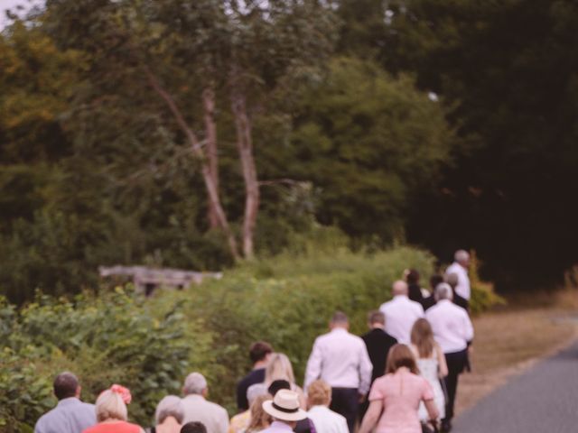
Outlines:
[{"label": "brown-haired woman in short-sleeved pink top near the road", "polygon": [[387,355],[386,375],[371,386],[369,408],[359,433],[368,433],[376,423],[376,433],[422,433],[417,415],[420,401],[435,422],[438,414],[432,387],[418,373],[410,348],[394,345]]}]

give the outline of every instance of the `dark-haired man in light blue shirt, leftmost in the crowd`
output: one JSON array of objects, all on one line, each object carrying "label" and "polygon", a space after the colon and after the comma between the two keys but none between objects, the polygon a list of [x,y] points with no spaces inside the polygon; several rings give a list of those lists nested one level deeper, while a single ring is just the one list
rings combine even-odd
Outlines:
[{"label": "dark-haired man in light blue shirt, leftmost in the crowd", "polygon": [[58,404],[45,413],[34,426],[34,433],[80,433],[97,423],[97,411],[93,404],[80,401],[80,385],[77,377],[60,373],[54,379],[54,395]]}]

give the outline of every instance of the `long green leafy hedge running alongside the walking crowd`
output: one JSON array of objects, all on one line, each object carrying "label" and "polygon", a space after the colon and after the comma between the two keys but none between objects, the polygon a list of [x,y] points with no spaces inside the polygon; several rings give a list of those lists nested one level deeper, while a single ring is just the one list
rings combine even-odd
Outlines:
[{"label": "long green leafy hedge running alongside the walking crowd", "polygon": [[87,401],[112,382],[126,384],[135,395],[130,415],[143,425],[191,370],[205,373],[211,399],[233,410],[252,341],[265,339],[289,355],[301,382],[313,339],[335,309],[362,333],[368,310],[389,297],[406,267],[424,277],[433,271],[433,256],[409,247],[351,253],[339,236],[324,245],[301,244],[221,281],[159,291],[153,299],[116,290],[72,301],[39,297],[18,312],[2,304],[0,426],[32,426],[55,403],[51,378],[64,369],[79,374]]}]

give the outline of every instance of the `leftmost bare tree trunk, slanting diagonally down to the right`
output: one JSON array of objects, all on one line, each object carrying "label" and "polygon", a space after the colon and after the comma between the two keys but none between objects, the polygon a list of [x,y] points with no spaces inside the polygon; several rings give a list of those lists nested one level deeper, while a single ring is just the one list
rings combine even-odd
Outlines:
[{"label": "leftmost bare tree trunk, slanting diagonally down to the right", "polygon": [[192,129],[187,124],[187,122],[184,120],[181,110],[179,110],[179,107],[174,102],[172,96],[161,86],[158,78],[156,78],[149,69],[146,69],[146,75],[151,87],[154,88],[154,91],[159,95],[159,97],[163,99],[165,104],[171,110],[171,113],[174,116],[174,119],[176,120],[177,124],[179,124],[182,133],[185,134],[185,136],[187,137],[187,141],[191,145],[192,152],[200,160],[202,178],[204,180],[205,188],[207,189],[207,195],[209,197],[209,207],[213,209],[215,216],[219,221],[220,228],[223,230],[225,236],[227,236],[228,246],[231,254],[235,258],[235,260],[238,260],[239,255],[238,255],[237,241],[235,239],[235,235],[233,235],[233,232],[230,229],[230,226],[228,226],[227,215],[225,214],[225,210],[223,209],[220,203],[219,189],[217,188],[217,185],[215,185],[213,181],[213,177],[210,171],[210,164],[206,160],[204,152],[202,152],[200,142],[197,136],[192,131]]}]

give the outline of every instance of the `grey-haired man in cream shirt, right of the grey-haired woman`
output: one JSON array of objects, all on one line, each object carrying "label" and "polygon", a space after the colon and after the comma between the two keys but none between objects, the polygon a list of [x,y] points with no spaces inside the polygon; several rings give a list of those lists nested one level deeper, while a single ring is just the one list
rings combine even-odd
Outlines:
[{"label": "grey-haired man in cream shirt, right of the grey-haired woman", "polygon": [[200,373],[191,373],[187,376],[182,387],[184,398],[183,423],[199,421],[207,428],[207,433],[227,433],[228,413],[225,408],[216,403],[207,401],[209,387],[207,380]]}]

